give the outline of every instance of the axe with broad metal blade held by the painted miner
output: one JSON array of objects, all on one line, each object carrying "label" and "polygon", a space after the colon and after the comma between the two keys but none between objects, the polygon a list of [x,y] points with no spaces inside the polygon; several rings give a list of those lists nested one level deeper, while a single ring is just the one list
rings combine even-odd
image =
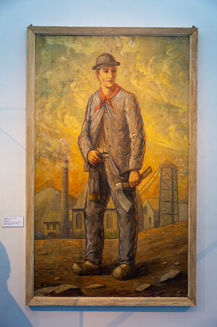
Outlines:
[{"label": "axe with broad metal blade held by the painted miner", "polygon": [[[143,173],[140,175],[140,180],[144,180],[149,174],[151,174],[152,168],[148,167]],[[122,208],[128,212],[132,206],[132,203],[126,198],[126,196],[123,193],[123,190],[126,188],[130,188],[130,182],[126,183],[117,183],[115,184],[115,191],[116,191],[116,196],[118,198],[118,201]]]}]

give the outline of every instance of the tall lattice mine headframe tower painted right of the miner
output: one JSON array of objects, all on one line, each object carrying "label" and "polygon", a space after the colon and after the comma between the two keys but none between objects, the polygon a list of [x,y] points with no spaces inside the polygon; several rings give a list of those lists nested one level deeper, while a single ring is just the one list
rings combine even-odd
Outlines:
[{"label": "tall lattice mine headframe tower painted right of the miner", "polygon": [[178,177],[179,170],[170,161],[159,164],[161,170],[158,226],[179,221]]}]

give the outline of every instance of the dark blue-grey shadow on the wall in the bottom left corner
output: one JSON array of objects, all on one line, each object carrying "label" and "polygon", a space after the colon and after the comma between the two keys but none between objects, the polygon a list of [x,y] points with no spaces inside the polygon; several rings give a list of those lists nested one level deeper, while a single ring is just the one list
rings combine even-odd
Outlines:
[{"label": "dark blue-grey shadow on the wall in the bottom left corner", "polygon": [[10,261],[7,252],[0,242],[0,310],[1,326],[30,327],[32,324],[23,313],[15,299],[7,289],[7,280],[10,275]]}]

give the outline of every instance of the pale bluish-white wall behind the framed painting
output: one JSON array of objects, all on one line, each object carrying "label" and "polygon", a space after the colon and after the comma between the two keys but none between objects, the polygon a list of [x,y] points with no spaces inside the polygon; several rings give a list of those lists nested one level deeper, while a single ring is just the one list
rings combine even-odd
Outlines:
[{"label": "pale bluish-white wall behind the framed painting", "polygon": [[199,28],[197,306],[25,306],[25,228],[0,227],[1,326],[217,325],[216,7],[216,0],[1,0],[0,217],[25,216],[27,25]]}]

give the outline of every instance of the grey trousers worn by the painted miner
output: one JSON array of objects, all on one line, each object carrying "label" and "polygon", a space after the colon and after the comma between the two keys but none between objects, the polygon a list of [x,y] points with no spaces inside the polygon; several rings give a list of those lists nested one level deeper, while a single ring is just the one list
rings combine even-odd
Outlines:
[{"label": "grey trousers worn by the painted miner", "polygon": [[[90,167],[90,170],[93,167]],[[104,158],[103,163],[96,166],[99,171],[99,201],[89,200],[89,184],[84,207],[85,231],[86,231],[86,260],[95,264],[102,263],[102,252],[104,245],[103,217],[110,195],[118,214],[119,226],[119,264],[127,264],[134,267],[137,247],[137,202],[135,189],[124,190],[125,196],[132,202],[128,213],[124,211],[116,197],[114,184],[126,182],[130,172],[118,175],[110,161]]]}]

